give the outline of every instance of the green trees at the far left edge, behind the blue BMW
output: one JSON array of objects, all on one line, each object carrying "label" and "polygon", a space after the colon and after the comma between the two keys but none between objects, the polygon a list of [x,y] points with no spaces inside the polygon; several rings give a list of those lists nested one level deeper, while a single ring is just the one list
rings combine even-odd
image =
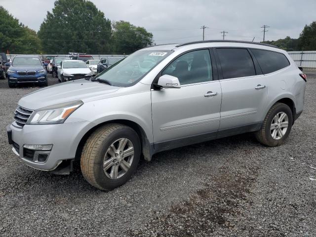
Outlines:
[{"label": "green trees at the far left edge, behind the blue BMW", "polygon": [[29,29],[0,6],[0,51],[16,54],[39,53],[40,39],[35,31]]}]

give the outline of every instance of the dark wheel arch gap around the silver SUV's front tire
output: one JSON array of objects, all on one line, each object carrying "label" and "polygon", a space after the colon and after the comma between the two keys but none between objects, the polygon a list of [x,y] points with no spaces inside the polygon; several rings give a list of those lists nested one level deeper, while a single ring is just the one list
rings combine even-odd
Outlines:
[{"label": "dark wheel arch gap around the silver SUV's front tire", "polygon": [[79,144],[77,146],[76,150],[76,160],[80,159],[82,148],[84,146],[84,143],[88,139],[88,137],[99,127],[109,124],[109,123],[120,123],[126,126],[131,127],[132,129],[135,130],[135,132],[138,134],[140,141],[141,141],[141,149],[142,149],[142,154],[144,156],[144,159],[147,161],[150,161],[153,155],[153,149],[151,147],[151,144],[149,142],[149,139],[146,135],[145,130],[140,126],[138,123],[128,120],[128,119],[113,119],[113,120],[108,120],[101,122],[99,124],[96,124],[94,127],[90,128],[80,139]]}]

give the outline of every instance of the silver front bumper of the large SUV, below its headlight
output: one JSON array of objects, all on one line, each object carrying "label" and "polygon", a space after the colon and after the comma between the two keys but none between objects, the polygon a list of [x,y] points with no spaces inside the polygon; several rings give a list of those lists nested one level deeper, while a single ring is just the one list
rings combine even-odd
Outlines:
[{"label": "silver front bumper of the large SUV, below its headlight", "polygon": [[[46,125],[25,125],[23,128],[15,122],[7,126],[8,140],[12,144],[12,151],[29,166],[40,170],[54,170],[63,160],[73,159],[81,137],[86,129],[93,125],[88,121],[70,122]],[[25,144],[52,144],[52,149],[45,152],[44,162],[38,161],[40,151],[35,151],[34,159],[30,159],[29,151],[23,148]]]}]

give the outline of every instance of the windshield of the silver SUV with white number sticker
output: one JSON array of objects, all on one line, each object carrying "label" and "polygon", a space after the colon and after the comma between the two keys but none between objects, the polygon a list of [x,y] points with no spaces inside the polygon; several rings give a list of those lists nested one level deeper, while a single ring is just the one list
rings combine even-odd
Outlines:
[{"label": "windshield of the silver SUV with white number sticker", "polygon": [[114,86],[134,85],[172,52],[171,50],[136,51],[97,75],[96,79],[106,80]]}]

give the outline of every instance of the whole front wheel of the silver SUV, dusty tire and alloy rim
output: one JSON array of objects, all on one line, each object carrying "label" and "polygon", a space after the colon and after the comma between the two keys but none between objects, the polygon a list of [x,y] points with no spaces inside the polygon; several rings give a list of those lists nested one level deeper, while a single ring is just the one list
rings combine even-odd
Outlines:
[{"label": "whole front wheel of the silver SUV, dusty tire and alloy rim", "polygon": [[130,179],[140,154],[139,137],[132,128],[106,124],[87,139],[80,158],[81,172],[94,187],[112,190]]}]

